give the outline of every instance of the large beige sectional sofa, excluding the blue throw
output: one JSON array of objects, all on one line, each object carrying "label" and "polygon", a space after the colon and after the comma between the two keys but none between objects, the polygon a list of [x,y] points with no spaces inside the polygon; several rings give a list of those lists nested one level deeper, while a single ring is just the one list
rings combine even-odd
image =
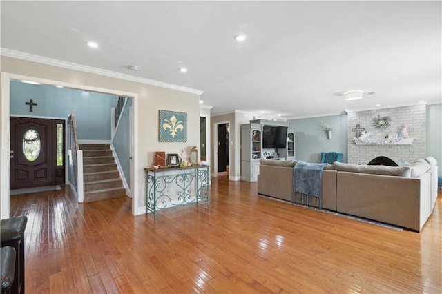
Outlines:
[{"label": "large beige sectional sofa, excluding the blue throw", "polygon": [[[293,202],[296,163],[261,159],[258,194]],[[323,171],[321,198],[323,209],[421,231],[436,204],[437,163],[433,157],[401,167],[335,162]]]}]

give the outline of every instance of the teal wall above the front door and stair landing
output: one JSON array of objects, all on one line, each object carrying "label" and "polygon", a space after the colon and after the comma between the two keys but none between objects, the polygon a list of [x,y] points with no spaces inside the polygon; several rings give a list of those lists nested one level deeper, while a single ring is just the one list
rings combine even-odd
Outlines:
[{"label": "teal wall above the front door and stair landing", "polygon": [[[29,112],[26,102],[37,106]],[[75,110],[79,140],[111,140],[111,108],[116,95],[11,81],[10,115],[67,118]]]}]

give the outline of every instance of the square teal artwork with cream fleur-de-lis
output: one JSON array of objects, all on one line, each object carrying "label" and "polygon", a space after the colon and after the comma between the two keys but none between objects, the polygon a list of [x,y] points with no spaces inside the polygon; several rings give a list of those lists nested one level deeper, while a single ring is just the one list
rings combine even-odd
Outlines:
[{"label": "square teal artwork with cream fleur-de-lis", "polygon": [[158,141],[186,142],[187,113],[160,110],[160,128],[158,132]]}]

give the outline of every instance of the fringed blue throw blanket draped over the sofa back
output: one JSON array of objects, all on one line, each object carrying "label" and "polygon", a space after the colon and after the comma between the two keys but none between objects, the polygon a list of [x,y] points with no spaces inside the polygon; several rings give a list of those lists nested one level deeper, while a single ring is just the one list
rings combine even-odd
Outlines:
[{"label": "fringed blue throw blanket draped over the sofa back", "polygon": [[328,164],[309,164],[298,161],[293,173],[293,202],[311,205],[311,197],[316,197],[319,208],[322,208],[323,170]]}]

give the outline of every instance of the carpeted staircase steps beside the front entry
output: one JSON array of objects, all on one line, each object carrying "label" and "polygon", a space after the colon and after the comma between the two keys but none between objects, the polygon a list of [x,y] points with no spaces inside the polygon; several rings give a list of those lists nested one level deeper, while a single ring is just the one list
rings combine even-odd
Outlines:
[{"label": "carpeted staircase steps beside the front entry", "polygon": [[79,144],[83,150],[84,202],[126,196],[109,144]]}]

